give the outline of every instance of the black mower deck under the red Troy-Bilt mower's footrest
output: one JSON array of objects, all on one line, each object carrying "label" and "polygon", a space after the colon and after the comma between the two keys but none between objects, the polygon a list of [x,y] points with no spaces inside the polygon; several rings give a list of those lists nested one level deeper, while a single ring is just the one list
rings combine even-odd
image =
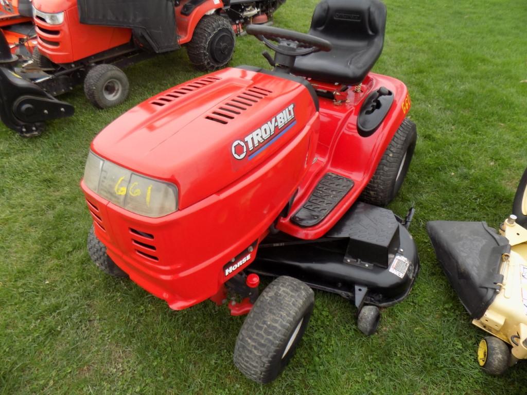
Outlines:
[{"label": "black mower deck under the red Troy-Bilt mower's footrest", "polygon": [[249,271],[297,278],[350,299],[357,308],[363,303],[387,307],[412,289],[419,257],[408,230],[391,211],[357,203],[321,239],[268,236]]}]

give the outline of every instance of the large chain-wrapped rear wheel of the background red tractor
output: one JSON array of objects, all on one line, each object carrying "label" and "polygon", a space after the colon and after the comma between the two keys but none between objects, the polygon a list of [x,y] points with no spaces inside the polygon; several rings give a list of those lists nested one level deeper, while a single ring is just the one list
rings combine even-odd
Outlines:
[{"label": "large chain-wrapped rear wheel of the background red tractor", "polygon": [[235,43],[234,31],[226,18],[205,15],[194,29],[187,53],[198,70],[218,70],[230,62]]}]

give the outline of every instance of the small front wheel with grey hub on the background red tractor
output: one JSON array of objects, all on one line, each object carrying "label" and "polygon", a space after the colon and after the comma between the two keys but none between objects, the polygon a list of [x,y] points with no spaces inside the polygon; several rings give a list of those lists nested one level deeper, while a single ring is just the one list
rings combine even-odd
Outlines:
[{"label": "small front wheel with grey hub on the background red tractor", "polygon": [[128,77],[112,64],[99,64],[90,69],[84,79],[84,94],[98,108],[109,108],[123,103],[128,97]]}]

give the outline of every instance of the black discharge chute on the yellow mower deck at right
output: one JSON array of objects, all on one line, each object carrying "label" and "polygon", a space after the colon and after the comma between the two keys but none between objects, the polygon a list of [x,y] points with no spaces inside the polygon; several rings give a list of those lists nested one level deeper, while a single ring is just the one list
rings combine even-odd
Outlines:
[{"label": "black discharge chute on the yellow mower deck at right", "polygon": [[426,226],[437,260],[473,319],[480,319],[503,282],[509,241],[485,222],[431,221]]}]

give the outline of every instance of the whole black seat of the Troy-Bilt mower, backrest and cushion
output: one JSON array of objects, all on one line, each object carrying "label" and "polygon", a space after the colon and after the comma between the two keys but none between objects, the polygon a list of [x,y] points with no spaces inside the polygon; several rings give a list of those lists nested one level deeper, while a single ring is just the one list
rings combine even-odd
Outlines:
[{"label": "whole black seat of the Troy-Bilt mower, backrest and cushion", "polygon": [[383,52],[386,6],[379,0],[323,0],[309,34],[333,44],[330,52],[296,58],[292,73],[324,82],[356,85]]}]

